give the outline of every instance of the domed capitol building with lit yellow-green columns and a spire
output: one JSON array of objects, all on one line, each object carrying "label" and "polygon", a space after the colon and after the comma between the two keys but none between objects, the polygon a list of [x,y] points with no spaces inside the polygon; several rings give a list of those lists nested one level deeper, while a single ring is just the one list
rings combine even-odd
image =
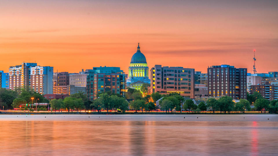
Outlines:
[{"label": "domed capitol building with lit yellow-green columns and a spire", "polygon": [[150,84],[149,67],[145,55],[140,51],[139,43],[136,53],[131,57],[128,69],[127,87],[140,90],[144,83]]}]

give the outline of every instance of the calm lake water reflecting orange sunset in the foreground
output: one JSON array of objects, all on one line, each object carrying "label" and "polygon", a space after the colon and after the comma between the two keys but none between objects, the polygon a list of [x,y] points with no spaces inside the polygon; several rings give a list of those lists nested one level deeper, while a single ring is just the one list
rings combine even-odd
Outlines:
[{"label": "calm lake water reflecting orange sunset in the foreground", "polygon": [[0,155],[278,155],[278,115],[0,115],[0,143]]}]

